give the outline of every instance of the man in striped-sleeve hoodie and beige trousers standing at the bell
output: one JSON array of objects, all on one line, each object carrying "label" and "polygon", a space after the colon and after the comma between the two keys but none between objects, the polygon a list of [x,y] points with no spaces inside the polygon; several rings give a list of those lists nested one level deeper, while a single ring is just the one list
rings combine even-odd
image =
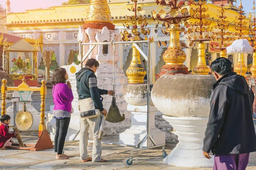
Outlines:
[{"label": "man in striped-sleeve hoodie and beige trousers standing at the bell", "polygon": [[[106,162],[107,160],[101,158],[102,154],[102,141],[98,139],[99,129],[101,124],[101,115],[96,114],[99,110],[105,116],[107,115],[106,109],[103,108],[102,100],[99,95],[113,94],[113,91],[99,89],[97,86],[96,70],[99,67],[99,62],[96,59],[88,59],[85,68],[82,68],[76,73],[76,84],[78,87],[79,101],[91,98],[94,103],[95,110],[84,112],[84,117],[80,119],[80,156],[83,162]],[[90,100],[91,101],[91,100]],[[83,107],[83,106],[80,106]],[[94,115],[93,115],[94,114]],[[88,118],[87,118],[87,117]],[[93,116],[93,117],[92,117]],[[89,126],[93,131],[93,156],[88,156],[87,144],[89,140]]]}]

